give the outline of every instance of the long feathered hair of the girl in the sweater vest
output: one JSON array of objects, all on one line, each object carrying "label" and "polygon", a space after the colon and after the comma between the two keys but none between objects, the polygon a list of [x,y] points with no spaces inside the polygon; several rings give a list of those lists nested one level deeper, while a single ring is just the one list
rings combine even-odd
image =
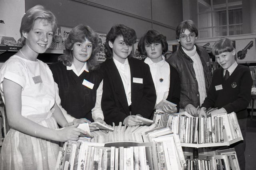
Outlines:
[{"label": "long feathered hair of the girl in the sweater vest", "polygon": [[72,48],[74,43],[83,43],[85,39],[88,39],[92,43],[92,54],[87,61],[89,70],[95,70],[98,68],[98,62],[96,61],[96,54],[100,50],[99,37],[88,25],[77,25],[68,34],[65,44],[65,54],[58,58],[58,61],[62,61],[65,66],[71,66],[74,60]]}]

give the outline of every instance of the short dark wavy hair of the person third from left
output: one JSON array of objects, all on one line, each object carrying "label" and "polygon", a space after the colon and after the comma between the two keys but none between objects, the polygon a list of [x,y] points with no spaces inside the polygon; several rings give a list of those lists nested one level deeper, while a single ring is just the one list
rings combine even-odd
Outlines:
[{"label": "short dark wavy hair of the person third from left", "polygon": [[[131,46],[134,43],[136,43],[136,32],[134,29],[127,27],[123,24],[117,24],[111,27],[110,31],[108,32],[106,36],[106,43],[105,46],[105,55],[107,59],[110,59],[113,57],[113,50],[110,48],[108,42],[114,43],[116,37],[122,36],[124,38],[124,43]],[[128,56],[132,56],[132,53]]]}]

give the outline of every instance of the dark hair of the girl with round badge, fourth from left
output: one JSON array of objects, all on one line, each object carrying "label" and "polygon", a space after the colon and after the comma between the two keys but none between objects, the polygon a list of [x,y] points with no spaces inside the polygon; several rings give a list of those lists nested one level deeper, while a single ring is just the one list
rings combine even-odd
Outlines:
[{"label": "dark hair of the girl with round badge, fourth from left", "polygon": [[138,43],[138,51],[141,55],[147,55],[145,45],[152,43],[161,43],[162,54],[168,51],[168,43],[166,41],[166,36],[160,34],[155,29],[148,30],[141,38]]}]

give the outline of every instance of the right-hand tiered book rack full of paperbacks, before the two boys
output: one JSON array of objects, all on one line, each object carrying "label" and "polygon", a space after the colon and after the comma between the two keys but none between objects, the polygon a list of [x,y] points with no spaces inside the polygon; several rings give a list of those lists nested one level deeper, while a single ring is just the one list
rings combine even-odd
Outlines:
[{"label": "right-hand tiered book rack full of paperbacks, before the two boys", "polygon": [[186,170],[204,170],[209,167],[210,170],[240,169],[234,149],[214,150],[214,147],[229,146],[243,140],[236,113],[218,113],[217,109],[212,109],[207,118],[193,117],[186,112],[174,115],[158,113],[154,118],[159,126],[170,127],[171,131],[179,135],[186,158]]}]

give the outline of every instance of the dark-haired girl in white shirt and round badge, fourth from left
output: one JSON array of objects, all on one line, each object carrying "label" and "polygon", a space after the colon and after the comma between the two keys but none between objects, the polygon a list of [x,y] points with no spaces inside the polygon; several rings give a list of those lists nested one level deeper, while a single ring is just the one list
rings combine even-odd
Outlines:
[{"label": "dark-haired girl in white shirt and round badge, fourth from left", "polygon": [[162,111],[176,113],[180,103],[180,78],[177,70],[165,61],[163,56],[168,50],[166,37],[151,29],[140,38],[138,51],[146,55],[144,62],[150,67],[150,72],[156,88],[156,105],[166,99],[177,106],[164,104]]}]

